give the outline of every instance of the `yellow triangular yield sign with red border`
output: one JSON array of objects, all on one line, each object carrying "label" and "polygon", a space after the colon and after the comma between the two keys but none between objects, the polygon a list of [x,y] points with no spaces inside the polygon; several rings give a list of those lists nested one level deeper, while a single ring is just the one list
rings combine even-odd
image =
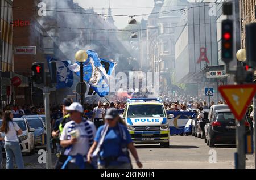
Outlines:
[{"label": "yellow triangular yield sign with red border", "polygon": [[256,85],[224,85],[218,89],[234,116],[240,121],[255,95]]}]

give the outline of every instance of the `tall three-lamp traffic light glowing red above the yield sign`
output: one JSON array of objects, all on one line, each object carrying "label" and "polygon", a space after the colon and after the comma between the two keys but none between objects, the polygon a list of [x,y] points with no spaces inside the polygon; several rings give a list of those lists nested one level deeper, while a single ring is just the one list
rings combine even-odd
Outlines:
[{"label": "tall three-lamp traffic light glowing red above the yield sign", "polygon": [[233,21],[222,21],[222,61],[226,64],[233,61]]}]

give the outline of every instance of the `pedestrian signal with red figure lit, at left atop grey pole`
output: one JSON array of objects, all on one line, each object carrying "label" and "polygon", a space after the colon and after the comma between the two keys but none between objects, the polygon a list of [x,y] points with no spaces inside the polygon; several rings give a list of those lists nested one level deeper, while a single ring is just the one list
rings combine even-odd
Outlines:
[{"label": "pedestrian signal with red figure lit, at left atop grey pole", "polygon": [[32,81],[36,87],[42,87],[45,84],[46,74],[44,71],[44,63],[35,62],[32,64]]}]

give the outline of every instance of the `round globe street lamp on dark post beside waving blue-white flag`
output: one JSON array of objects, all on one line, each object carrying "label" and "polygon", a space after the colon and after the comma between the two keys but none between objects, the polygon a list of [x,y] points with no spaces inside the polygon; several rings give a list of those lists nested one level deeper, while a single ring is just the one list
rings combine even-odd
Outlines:
[{"label": "round globe street lamp on dark post beside waving blue-white flag", "polygon": [[75,59],[80,62],[80,103],[82,106],[84,106],[84,94],[86,91],[86,84],[84,82],[84,62],[87,60],[88,54],[85,52],[85,50],[79,50],[75,54]]}]

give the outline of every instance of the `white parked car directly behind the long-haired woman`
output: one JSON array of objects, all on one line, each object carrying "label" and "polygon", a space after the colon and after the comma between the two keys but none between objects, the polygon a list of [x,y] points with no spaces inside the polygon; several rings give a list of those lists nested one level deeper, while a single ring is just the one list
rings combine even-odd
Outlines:
[{"label": "white parked car directly behind the long-haired woman", "polygon": [[[32,153],[35,152],[35,129],[30,127],[27,120],[24,118],[14,118],[13,121],[16,122],[20,129],[23,131],[22,135],[19,135],[20,140],[22,140],[22,143],[20,143],[20,149],[22,150],[22,153],[32,155]],[[0,119],[0,126],[1,125],[2,119]],[[5,149],[2,150],[5,151]]]}]

